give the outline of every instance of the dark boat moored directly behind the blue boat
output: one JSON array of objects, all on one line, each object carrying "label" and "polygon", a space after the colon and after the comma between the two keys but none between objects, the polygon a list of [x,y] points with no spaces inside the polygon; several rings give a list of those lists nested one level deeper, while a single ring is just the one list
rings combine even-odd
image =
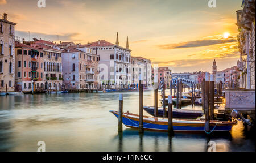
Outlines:
[{"label": "dark boat moored directly behind the blue boat", "polygon": [[[154,107],[144,106],[143,107],[148,114],[154,116],[155,109]],[[158,117],[163,117],[163,108],[158,108]],[[203,116],[203,111],[199,110],[183,110],[183,109],[172,109],[172,114],[174,118],[189,118],[189,119],[196,119],[198,117]],[[168,115],[168,109],[166,109],[166,115]]]}]

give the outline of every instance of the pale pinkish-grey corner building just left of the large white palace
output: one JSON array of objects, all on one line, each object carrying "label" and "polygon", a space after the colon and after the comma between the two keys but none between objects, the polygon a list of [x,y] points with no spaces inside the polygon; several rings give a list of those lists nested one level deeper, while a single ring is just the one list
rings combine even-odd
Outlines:
[{"label": "pale pinkish-grey corner building just left of the large white palace", "polygon": [[65,89],[98,89],[98,61],[86,45],[69,46],[62,53]]}]

